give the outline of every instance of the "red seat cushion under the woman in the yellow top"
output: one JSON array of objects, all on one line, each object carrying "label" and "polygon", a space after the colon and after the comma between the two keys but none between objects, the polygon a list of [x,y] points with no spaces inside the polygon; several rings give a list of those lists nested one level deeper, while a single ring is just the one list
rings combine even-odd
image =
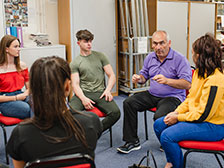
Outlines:
[{"label": "red seat cushion under the woman in the yellow top", "polygon": [[224,140],[213,142],[180,141],[179,145],[183,148],[224,151]]}]

